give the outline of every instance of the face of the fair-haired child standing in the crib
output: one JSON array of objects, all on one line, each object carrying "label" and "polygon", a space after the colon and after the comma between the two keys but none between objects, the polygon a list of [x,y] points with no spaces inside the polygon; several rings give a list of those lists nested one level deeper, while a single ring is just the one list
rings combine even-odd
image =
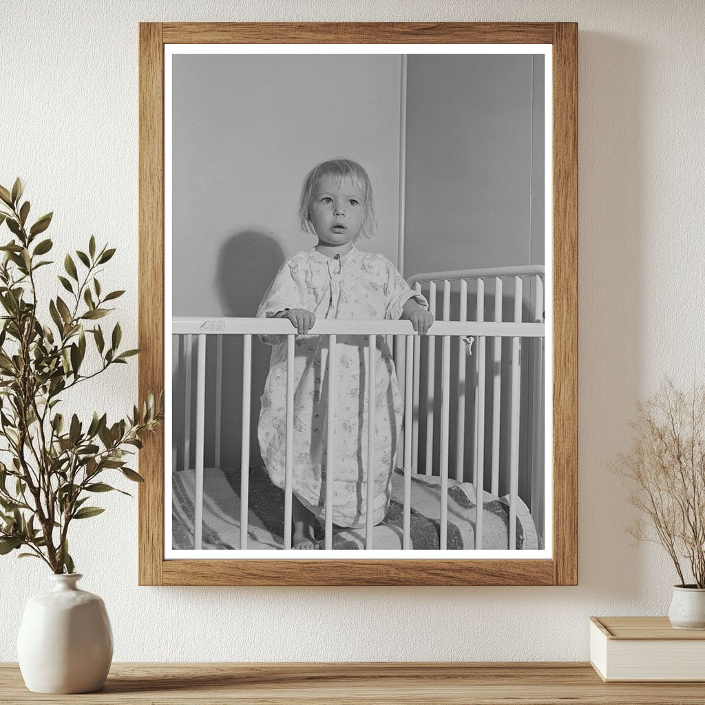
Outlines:
[{"label": "face of the fair-haired child standing in the crib", "polygon": [[353,242],[364,221],[362,190],[349,178],[323,176],[317,183],[309,218],[321,243]]}]

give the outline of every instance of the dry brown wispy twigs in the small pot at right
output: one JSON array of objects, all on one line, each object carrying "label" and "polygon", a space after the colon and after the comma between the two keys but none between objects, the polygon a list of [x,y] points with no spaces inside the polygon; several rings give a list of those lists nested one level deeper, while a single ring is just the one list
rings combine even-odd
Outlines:
[{"label": "dry brown wispy twigs in the small pot at right", "polygon": [[[615,470],[630,486],[630,504],[646,515],[627,532],[661,544],[675,565],[680,587],[687,570],[705,587],[705,386],[685,393],[666,380],[637,404],[632,448]],[[692,585],[692,583],[691,583]]]}]

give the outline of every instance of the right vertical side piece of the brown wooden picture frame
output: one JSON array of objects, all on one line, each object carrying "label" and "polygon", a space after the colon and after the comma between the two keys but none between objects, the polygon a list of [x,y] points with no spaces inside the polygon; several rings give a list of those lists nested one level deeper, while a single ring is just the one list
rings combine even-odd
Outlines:
[{"label": "right vertical side piece of the brown wooden picture frame", "polygon": [[553,42],[553,551],[577,584],[577,24]]}]

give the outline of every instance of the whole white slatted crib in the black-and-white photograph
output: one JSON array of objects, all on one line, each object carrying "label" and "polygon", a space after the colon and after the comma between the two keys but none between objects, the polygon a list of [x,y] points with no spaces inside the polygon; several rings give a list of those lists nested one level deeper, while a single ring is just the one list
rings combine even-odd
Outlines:
[{"label": "whole white slatted crib in the black-and-white photograph", "polygon": [[[404,399],[403,435],[398,443],[397,463],[403,467],[403,542],[410,546],[412,475],[435,475],[440,485],[439,548],[448,540],[448,479],[472,482],[477,504],[474,512],[474,548],[483,548],[483,498],[502,489],[508,494],[508,548],[516,537],[517,499],[520,492],[539,529],[543,522],[543,364],[544,364],[544,268],[503,267],[418,274],[409,283],[429,300],[436,323],[422,340],[409,321],[319,320],[312,333],[329,338],[335,349],[336,336],[360,335],[372,349],[376,336],[393,343],[397,377]],[[440,283],[440,286],[439,286]],[[507,304],[510,304],[508,307]],[[510,308],[507,315],[505,308]],[[288,350],[288,409],[286,486],[284,489],[283,548],[291,546],[293,470],[293,353],[295,335],[289,321],[256,318],[175,318],[172,334],[178,336],[178,366],[175,384],[183,384],[183,428],[173,429],[183,443],[181,462],[173,453],[173,470],[195,470],[195,517],[193,544],[202,548],[204,467],[206,437],[207,340],[214,339],[212,369],[214,424],[212,457],[215,467],[223,463],[223,336],[242,341],[242,395],[240,400],[240,517],[248,516],[250,436],[257,419],[250,413],[252,396],[252,336],[269,333],[286,336]],[[491,357],[487,355],[487,339]],[[196,345],[193,343],[196,341]],[[505,344],[503,345],[503,341]],[[522,345],[524,350],[522,350]],[[439,348],[436,350],[436,348]],[[505,349],[503,349],[505,348]],[[436,364],[436,356],[440,364]],[[374,355],[368,384],[374,388]],[[328,392],[336,399],[336,356],[329,357]],[[468,369],[470,368],[470,369]],[[194,377],[195,369],[195,380]],[[453,374],[451,374],[453,372]],[[195,382],[195,384],[194,384]],[[259,393],[259,390],[255,390]],[[505,399],[503,399],[503,394]],[[194,413],[195,412],[195,413]],[[329,410],[333,416],[333,409]],[[368,429],[374,434],[374,407],[368,410]],[[194,418],[195,416],[195,418]],[[486,419],[486,417],[488,417]],[[440,423],[438,419],[440,418]],[[523,418],[523,424],[522,424]],[[523,437],[523,442],[522,442]],[[195,440],[195,448],[192,448]],[[369,439],[367,466],[374,468],[374,442]],[[505,441],[505,442],[503,442]],[[328,457],[333,457],[327,439]],[[525,458],[520,462],[520,446]],[[195,450],[192,453],[192,450]],[[191,461],[193,455],[193,463]],[[334,465],[331,463],[332,472]],[[331,470],[328,471],[329,473]],[[522,489],[520,490],[520,480]],[[369,491],[372,483],[368,482]],[[331,484],[326,486],[326,507],[332,506]],[[368,503],[371,498],[368,496]],[[333,546],[332,511],[326,511],[324,544]],[[374,548],[372,516],[364,529],[364,548]],[[240,548],[248,542],[247,520],[240,522]]]}]

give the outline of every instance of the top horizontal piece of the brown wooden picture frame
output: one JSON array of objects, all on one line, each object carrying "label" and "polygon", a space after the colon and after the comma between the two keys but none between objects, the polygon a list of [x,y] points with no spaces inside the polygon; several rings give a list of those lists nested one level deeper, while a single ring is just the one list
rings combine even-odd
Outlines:
[{"label": "top horizontal piece of the brown wooden picture frame", "polygon": [[552,23],[165,23],[164,44],[551,44]]}]

